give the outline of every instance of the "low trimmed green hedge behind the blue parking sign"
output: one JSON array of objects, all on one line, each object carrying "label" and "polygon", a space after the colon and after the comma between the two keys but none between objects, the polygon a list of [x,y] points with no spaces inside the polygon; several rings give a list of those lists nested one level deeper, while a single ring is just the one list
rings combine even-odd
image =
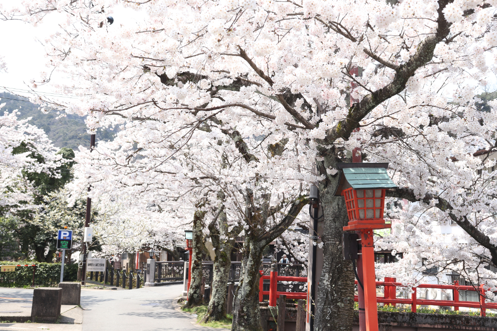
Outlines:
[{"label": "low trimmed green hedge behind the blue parking sign", "polygon": [[[34,285],[43,287],[56,287],[60,282],[60,263],[40,263],[36,261],[0,261],[0,265],[24,265],[36,264]],[[64,266],[64,281],[75,281],[78,273],[78,264],[66,264]],[[0,273],[0,286],[24,287],[31,286],[33,281],[33,267],[16,267],[13,272]]]}]

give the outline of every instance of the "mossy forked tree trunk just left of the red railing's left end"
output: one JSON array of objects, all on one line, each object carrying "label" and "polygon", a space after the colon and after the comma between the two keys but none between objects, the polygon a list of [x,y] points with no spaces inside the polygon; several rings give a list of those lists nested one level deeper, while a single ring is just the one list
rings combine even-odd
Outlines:
[{"label": "mossy forked tree trunk just left of the red railing's left end", "polygon": [[235,293],[232,331],[258,331],[259,323],[259,268],[264,244],[246,236],[240,284]]}]

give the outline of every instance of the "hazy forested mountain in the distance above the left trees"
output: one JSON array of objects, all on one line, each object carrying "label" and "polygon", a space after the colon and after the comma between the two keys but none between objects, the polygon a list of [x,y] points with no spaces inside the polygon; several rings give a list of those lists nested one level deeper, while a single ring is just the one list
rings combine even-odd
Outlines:
[{"label": "hazy forested mountain in the distance above the left trees", "polygon": [[[66,117],[56,119],[57,114],[44,114],[39,110],[39,106],[28,101],[27,98],[10,94],[7,92],[0,93],[0,104],[5,103],[0,112],[8,111],[11,113],[14,109],[19,110],[20,119],[32,117],[29,124],[35,125],[45,130],[48,138],[52,140],[57,148],[72,148],[77,150],[80,145],[89,147],[90,137],[86,133],[84,118],[78,115],[67,115]],[[113,139],[113,131],[98,130],[96,141],[108,141]]]}]

